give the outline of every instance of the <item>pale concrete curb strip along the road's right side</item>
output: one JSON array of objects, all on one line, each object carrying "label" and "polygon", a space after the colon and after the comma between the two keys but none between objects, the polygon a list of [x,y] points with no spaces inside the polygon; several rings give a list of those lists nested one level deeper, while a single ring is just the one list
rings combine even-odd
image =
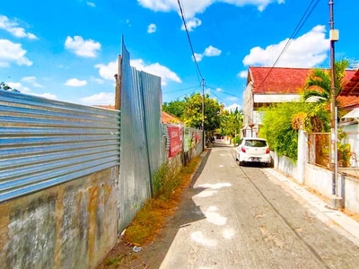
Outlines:
[{"label": "pale concrete curb strip along the road's right side", "polygon": [[305,186],[293,182],[293,180],[285,177],[275,169],[262,169],[262,171],[269,179],[276,181],[281,187],[289,187],[296,195],[299,195],[310,207],[311,213],[318,217],[320,221],[346,236],[355,245],[359,245],[359,222],[348,217],[345,213],[329,209],[323,200],[311,194]]}]

